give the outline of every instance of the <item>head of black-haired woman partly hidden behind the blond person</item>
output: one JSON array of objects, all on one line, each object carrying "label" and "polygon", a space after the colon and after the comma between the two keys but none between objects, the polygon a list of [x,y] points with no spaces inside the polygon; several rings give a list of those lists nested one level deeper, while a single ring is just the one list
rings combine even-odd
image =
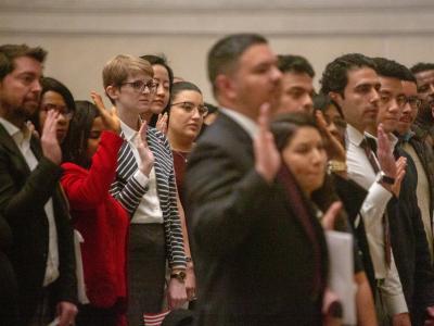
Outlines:
[{"label": "head of black-haired woman partly hidden behind the blond person", "polygon": [[142,117],[150,126],[156,127],[163,134],[167,130],[167,110],[169,109],[171,85],[174,84],[174,72],[167,64],[164,55],[145,54],[140,57],[152,65],[154,80],[158,83],[157,90],[151,103],[151,110]]}]

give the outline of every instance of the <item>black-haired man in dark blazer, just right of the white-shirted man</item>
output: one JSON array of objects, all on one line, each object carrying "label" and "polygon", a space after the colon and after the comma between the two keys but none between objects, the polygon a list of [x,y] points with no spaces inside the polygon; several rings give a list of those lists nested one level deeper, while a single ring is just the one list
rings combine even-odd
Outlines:
[{"label": "black-haired man in dark blazer, just right of the white-shirted man", "polygon": [[[409,79],[408,70],[392,60],[374,59],[380,78],[380,101],[376,123],[367,131],[373,136],[370,141],[376,152],[376,129],[383,130],[391,140],[391,148],[397,160],[396,180],[393,185],[394,197],[387,203],[383,222],[390,224],[390,240],[395,258],[403,291],[406,297],[412,325],[423,325],[431,318],[430,306],[434,304],[434,271],[431,264],[426,235],[416,197],[418,176],[413,161],[399,147],[398,139],[392,134],[397,129],[403,110],[407,105],[403,82]],[[406,158],[406,165],[403,159]]]}]

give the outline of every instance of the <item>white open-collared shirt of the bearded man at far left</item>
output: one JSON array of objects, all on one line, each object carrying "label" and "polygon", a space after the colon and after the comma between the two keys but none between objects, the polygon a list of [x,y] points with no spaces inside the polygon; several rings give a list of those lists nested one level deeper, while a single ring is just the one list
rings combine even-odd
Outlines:
[{"label": "white open-collared shirt of the bearded man at far left", "polygon": [[[11,135],[16,146],[18,147],[21,153],[24,156],[30,171],[34,171],[38,165],[38,160],[35,158],[30,149],[30,138],[31,133],[25,126],[22,130],[15,125],[11,124],[9,121],[0,117],[0,123],[7,129],[8,134]],[[54,210],[53,200],[50,198],[43,206],[49,227],[49,249],[47,256],[47,267],[43,277],[43,286],[52,284],[59,277],[59,248],[58,248],[58,229],[54,222]]]}]

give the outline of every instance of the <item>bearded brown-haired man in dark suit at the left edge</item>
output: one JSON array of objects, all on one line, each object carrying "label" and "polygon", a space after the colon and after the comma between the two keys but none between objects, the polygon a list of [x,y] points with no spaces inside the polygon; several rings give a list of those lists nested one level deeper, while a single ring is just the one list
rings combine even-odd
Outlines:
[{"label": "bearded brown-haired man in dark suit at the left edge", "polygon": [[18,283],[20,325],[71,325],[77,312],[73,229],[60,188],[60,113],[50,111],[41,141],[26,121],[38,109],[46,51],[0,47],[0,212],[12,229],[8,251]]}]

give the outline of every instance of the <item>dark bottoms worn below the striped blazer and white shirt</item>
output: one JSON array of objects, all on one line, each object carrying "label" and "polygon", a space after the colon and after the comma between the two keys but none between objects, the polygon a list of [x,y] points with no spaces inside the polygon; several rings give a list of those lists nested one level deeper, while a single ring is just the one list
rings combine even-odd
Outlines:
[{"label": "dark bottoms worn below the striped blazer and white shirt", "polygon": [[162,311],[165,267],[163,224],[131,224],[128,243],[129,326],[142,326],[143,313]]}]

